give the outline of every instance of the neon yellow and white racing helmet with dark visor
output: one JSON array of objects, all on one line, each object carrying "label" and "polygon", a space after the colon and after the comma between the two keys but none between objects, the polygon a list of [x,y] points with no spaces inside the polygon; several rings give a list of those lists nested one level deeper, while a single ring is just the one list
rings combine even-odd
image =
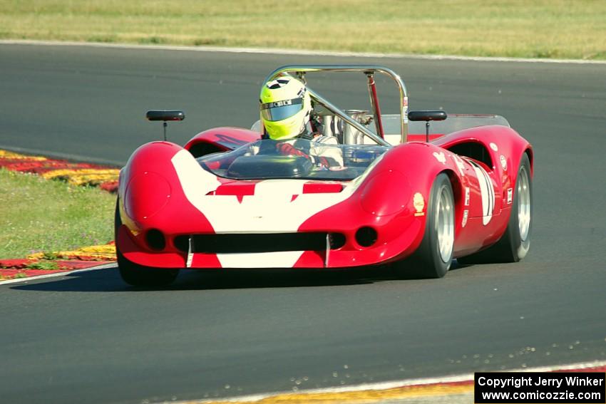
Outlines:
[{"label": "neon yellow and white racing helmet with dark visor", "polygon": [[261,88],[261,122],[270,139],[292,139],[303,132],[312,112],[312,99],[302,81],[282,76]]}]

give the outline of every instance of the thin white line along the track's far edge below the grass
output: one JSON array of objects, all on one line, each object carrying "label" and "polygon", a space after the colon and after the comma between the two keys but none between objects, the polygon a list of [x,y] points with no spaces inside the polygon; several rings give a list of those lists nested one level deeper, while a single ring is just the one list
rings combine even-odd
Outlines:
[{"label": "thin white line along the track's far edge below the grass", "polygon": [[0,40],[7,45],[38,45],[38,46],[89,46],[93,48],[120,48],[120,49],[151,49],[159,51],[195,51],[195,52],[225,52],[225,53],[262,53],[272,55],[297,56],[334,56],[355,58],[409,58],[421,60],[448,60],[448,61],[478,61],[478,62],[516,62],[516,63],[573,63],[606,65],[606,61],[589,61],[584,59],[537,59],[537,58],[488,58],[483,56],[454,56],[454,55],[414,55],[409,53],[364,53],[364,52],[337,52],[337,51],[309,51],[281,48],[225,48],[219,46],[165,46],[165,45],[135,45],[128,43],[96,43],[96,42],[60,42],[60,41],[34,41],[19,39]]}]

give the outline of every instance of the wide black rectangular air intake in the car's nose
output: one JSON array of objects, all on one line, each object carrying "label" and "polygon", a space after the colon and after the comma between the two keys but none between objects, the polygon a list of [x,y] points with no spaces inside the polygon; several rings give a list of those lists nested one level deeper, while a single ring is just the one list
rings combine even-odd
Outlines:
[{"label": "wide black rectangular air intake in the car's nose", "polygon": [[[175,237],[175,247],[188,251],[189,237]],[[327,233],[194,234],[192,244],[192,252],[206,254],[326,251]],[[342,244],[332,245],[333,249],[339,247]]]}]

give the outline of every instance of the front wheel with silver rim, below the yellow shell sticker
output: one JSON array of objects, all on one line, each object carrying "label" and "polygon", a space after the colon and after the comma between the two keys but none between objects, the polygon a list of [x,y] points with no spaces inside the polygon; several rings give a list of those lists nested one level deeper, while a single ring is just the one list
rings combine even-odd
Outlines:
[{"label": "front wheel with silver rim, below the yellow shell sticker", "polygon": [[411,257],[394,263],[399,276],[442,278],[446,275],[453,260],[454,207],[451,181],[448,175],[441,173],[431,186],[421,245]]}]

